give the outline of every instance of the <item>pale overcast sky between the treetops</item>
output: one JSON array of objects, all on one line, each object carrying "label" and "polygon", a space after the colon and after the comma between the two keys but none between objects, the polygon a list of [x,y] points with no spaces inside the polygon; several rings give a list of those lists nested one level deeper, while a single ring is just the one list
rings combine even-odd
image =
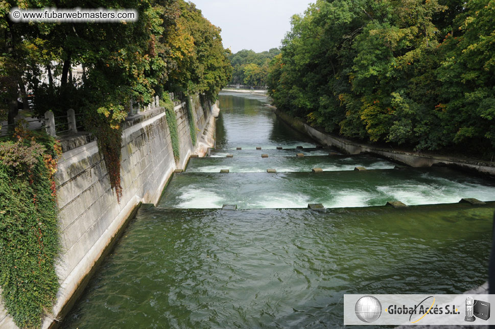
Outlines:
[{"label": "pale overcast sky between the treetops", "polygon": [[232,53],[260,53],[280,46],[291,29],[290,19],[316,0],[192,0],[203,16],[222,29],[225,48]]}]

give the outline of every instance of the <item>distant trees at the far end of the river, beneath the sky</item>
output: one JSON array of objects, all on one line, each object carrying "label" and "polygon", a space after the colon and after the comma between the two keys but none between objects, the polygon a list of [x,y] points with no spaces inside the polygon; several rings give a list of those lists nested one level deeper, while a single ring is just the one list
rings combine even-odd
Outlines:
[{"label": "distant trees at the far end of the river, beneath the sky", "polygon": [[235,54],[230,54],[228,58],[233,67],[230,84],[265,86],[270,61],[279,53],[279,49],[272,48],[267,52],[261,53],[244,49]]}]

